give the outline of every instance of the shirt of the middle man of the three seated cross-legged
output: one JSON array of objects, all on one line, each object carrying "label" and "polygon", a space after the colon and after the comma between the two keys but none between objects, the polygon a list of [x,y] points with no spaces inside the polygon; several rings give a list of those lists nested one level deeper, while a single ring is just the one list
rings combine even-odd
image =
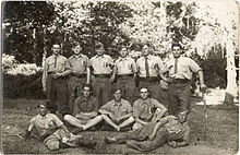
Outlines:
[{"label": "shirt of the middle man of the three seated cross-legged", "polygon": [[115,99],[112,99],[106,105],[101,106],[100,109],[110,111],[118,118],[132,112],[131,104],[124,99],[121,99],[120,103],[116,103]]}]

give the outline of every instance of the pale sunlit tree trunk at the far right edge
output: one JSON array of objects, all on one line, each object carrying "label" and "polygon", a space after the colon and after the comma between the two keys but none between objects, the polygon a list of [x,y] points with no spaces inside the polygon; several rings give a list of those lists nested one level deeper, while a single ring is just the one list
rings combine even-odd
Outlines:
[{"label": "pale sunlit tree trunk at the far right edge", "polygon": [[231,40],[227,41],[227,88],[224,104],[232,105],[237,95],[236,67],[235,67],[235,48]]}]

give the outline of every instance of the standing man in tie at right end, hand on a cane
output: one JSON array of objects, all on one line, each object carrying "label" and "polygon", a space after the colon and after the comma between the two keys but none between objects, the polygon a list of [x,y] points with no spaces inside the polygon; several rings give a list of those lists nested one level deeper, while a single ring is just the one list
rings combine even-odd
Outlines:
[{"label": "standing man in tie at right end, hand on a cane", "polygon": [[191,58],[182,57],[182,49],[179,44],[172,45],[173,58],[167,61],[169,71],[169,105],[168,112],[177,116],[179,111],[189,110],[191,104],[190,80],[192,73],[197,73],[200,87],[206,88],[204,84],[203,71]]}]

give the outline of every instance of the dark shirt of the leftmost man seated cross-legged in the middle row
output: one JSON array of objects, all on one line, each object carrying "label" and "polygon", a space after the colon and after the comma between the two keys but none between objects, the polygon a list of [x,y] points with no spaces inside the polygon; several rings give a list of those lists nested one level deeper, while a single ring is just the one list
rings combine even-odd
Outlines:
[{"label": "dark shirt of the leftmost man seated cross-legged in the middle row", "polygon": [[81,112],[93,112],[98,111],[98,100],[94,96],[89,98],[85,98],[80,96],[75,99],[74,108],[73,108],[73,116],[81,114]]}]

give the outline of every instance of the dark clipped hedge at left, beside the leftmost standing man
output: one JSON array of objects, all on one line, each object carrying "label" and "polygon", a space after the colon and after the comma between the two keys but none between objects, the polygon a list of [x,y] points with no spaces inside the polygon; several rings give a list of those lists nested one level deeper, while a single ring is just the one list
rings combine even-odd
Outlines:
[{"label": "dark clipped hedge at left, beside the leftmost standing man", "polygon": [[41,72],[36,74],[3,74],[3,97],[7,98],[45,98],[41,87]]}]

